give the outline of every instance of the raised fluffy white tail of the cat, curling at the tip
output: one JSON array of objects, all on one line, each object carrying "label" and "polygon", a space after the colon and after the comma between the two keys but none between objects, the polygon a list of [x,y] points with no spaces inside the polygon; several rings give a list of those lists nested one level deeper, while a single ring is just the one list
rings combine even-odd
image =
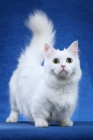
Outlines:
[{"label": "raised fluffy white tail of the cat, curling at the tip", "polygon": [[54,45],[55,31],[45,13],[36,11],[31,14],[26,25],[33,32],[33,37],[29,46],[21,54],[18,67],[41,64],[44,59],[44,44]]}]

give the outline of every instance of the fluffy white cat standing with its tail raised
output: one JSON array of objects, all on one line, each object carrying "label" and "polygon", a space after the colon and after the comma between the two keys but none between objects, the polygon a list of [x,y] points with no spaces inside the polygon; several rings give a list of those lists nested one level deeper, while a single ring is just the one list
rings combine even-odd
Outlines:
[{"label": "fluffy white cat standing with its tail raised", "polygon": [[78,42],[63,51],[55,50],[53,24],[41,11],[30,15],[26,24],[33,38],[21,54],[9,83],[11,113],[6,122],[17,122],[23,113],[36,127],[47,127],[50,121],[72,126],[70,117],[76,107],[81,78]]}]

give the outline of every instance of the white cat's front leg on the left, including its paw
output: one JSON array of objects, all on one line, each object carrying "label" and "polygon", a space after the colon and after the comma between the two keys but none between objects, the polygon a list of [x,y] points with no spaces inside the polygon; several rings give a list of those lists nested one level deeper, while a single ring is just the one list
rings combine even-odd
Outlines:
[{"label": "white cat's front leg on the left, including its paw", "polygon": [[31,106],[31,114],[33,120],[35,122],[36,127],[48,127],[48,118],[49,118],[49,106],[47,105],[47,101],[42,97],[39,96],[37,99],[34,98],[32,106]]}]

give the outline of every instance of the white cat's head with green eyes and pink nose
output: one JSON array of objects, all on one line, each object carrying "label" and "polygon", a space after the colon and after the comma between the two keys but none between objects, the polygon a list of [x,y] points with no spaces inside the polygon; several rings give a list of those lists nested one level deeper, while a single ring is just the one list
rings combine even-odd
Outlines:
[{"label": "white cat's head with green eyes and pink nose", "polygon": [[[73,75],[81,76],[78,57],[78,41],[74,41],[67,49],[55,50],[45,44],[45,70],[60,78],[70,78]],[[79,77],[78,77],[79,78]]]}]

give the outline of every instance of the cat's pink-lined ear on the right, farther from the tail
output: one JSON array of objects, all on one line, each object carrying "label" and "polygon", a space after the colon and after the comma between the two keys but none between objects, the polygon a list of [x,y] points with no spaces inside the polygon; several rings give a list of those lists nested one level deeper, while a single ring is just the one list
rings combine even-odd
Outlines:
[{"label": "cat's pink-lined ear on the right, farther from the tail", "polygon": [[74,41],[68,48],[68,50],[75,56],[78,55],[78,41]]}]

